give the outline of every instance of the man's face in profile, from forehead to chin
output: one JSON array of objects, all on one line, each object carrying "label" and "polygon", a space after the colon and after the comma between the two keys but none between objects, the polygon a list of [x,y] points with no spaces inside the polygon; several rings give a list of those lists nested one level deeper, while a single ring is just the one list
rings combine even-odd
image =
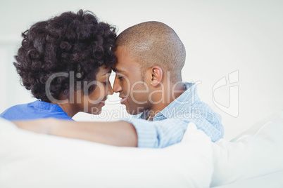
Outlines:
[{"label": "man's face in profile, from forehead to chin", "polygon": [[139,63],[130,57],[124,46],[118,46],[115,55],[118,62],[113,67],[116,72],[113,91],[120,93],[121,104],[126,106],[129,114],[139,114],[149,109],[149,87],[142,79]]}]

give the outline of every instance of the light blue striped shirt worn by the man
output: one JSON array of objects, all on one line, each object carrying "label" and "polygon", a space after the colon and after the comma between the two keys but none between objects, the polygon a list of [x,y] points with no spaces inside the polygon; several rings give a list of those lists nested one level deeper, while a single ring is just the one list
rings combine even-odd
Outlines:
[{"label": "light blue striped shirt worn by the man", "polygon": [[189,122],[203,130],[213,142],[224,135],[221,116],[201,102],[196,84],[184,83],[186,91],[154,116],[153,121],[144,120],[147,112],[129,121],[137,130],[138,147],[168,147],[182,140]]}]

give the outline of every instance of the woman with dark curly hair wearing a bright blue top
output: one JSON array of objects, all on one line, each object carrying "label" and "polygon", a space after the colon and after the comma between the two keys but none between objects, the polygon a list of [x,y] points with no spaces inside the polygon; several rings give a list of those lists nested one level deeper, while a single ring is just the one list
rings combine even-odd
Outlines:
[{"label": "woman with dark curly hair wearing a bright blue top", "polygon": [[80,10],[37,22],[22,36],[13,65],[38,100],[6,109],[1,117],[72,119],[77,112],[101,113],[113,94],[114,27]]}]

